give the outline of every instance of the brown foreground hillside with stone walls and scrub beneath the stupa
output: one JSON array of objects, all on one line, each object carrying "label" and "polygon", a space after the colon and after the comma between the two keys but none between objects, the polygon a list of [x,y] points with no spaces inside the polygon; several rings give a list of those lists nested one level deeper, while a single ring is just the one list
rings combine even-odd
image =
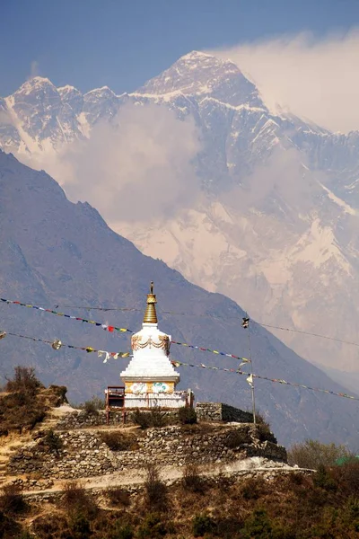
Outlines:
[{"label": "brown foreground hillside with stone walls and scrub beneath the stupa", "polygon": [[[4,539],[357,535],[353,460],[318,472],[290,467],[265,424],[160,426],[158,416],[155,428],[104,427],[100,413],[68,408],[51,410],[30,440],[22,433],[8,444],[0,477]],[[276,458],[258,456],[270,447]]]}]

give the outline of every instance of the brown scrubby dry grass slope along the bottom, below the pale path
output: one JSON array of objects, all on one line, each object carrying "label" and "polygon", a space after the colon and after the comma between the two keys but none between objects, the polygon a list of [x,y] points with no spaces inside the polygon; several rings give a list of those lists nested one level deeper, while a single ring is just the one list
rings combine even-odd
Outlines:
[{"label": "brown scrubby dry grass slope along the bottom, below the pale path", "polygon": [[[162,497],[164,510],[149,504],[145,489],[143,494],[131,498],[130,505],[119,501],[111,503],[108,509],[83,511],[88,501],[79,503],[78,487],[80,499],[83,499],[82,487],[79,485],[76,490],[73,486],[67,490],[66,503],[58,504],[51,517],[35,518],[31,531],[36,531],[38,539],[79,536],[192,539],[200,533],[205,533],[207,539],[354,539],[359,534],[359,465],[328,468],[325,473],[327,479],[336,482],[337,490],[328,488],[325,476],[318,486],[318,478],[296,474],[278,476],[270,482],[252,479],[228,483],[224,489],[223,485],[211,483],[202,495],[172,485]],[[148,479],[151,489],[157,481],[158,474],[151,472]],[[119,492],[121,498],[121,490]],[[32,520],[39,511],[43,513],[43,509],[44,504],[32,508]],[[18,526],[22,522],[18,520]]]}]

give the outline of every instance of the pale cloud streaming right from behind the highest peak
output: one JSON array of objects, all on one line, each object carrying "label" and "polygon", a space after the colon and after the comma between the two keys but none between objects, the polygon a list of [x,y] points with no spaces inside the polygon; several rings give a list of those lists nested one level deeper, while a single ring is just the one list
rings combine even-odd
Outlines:
[{"label": "pale cloud streaming right from behind the highest peak", "polygon": [[232,59],[278,107],[319,125],[359,129],[359,29],[324,39],[310,33],[212,51]]}]

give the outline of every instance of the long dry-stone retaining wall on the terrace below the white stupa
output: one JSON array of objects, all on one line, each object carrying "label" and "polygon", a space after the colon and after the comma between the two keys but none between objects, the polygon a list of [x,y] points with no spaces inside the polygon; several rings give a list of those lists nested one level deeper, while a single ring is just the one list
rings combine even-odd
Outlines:
[{"label": "long dry-stone retaining wall on the terrace below the white stupa", "polygon": [[[277,446],[271,440],[271,433],[265,439],[263,432],[248,424],[132,429],[136,443],[132,444],[134,449],[126,451],[111,451],[101,440],[101,432],[59,431],[62,448],[57,453],[44,451],[41,439],[33,441],[13,455],[7,473],[36,473],[43,479],[74,479],[138,469],[149,462],[159,465],[230,463],[247,456],[286,462],[285,447]],[[121,436],[121,429],[117,432]]]}]

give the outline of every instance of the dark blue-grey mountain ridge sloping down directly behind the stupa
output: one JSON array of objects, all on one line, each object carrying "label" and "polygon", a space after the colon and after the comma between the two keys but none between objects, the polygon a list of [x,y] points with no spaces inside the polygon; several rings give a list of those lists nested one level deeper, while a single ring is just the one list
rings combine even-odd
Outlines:
[{"label": "dark blue-grey mountain ridge sloping down directly behind the stupa", "polygon": [[[190,284],[162,261],[139,252],[114,233],[87,203],[74,204],[45,172],[36,172],[0,150],[1,296],[124,328],[141,327],[149,281],[155,282],[160,327],[172,340],[249,356],[242,309],[231,299]],[[139,311],[103,312],[90,306]],[[166,314],[176,311],[185,314]],[[129,349],[128,333],[110,333],[92,324],[0,303],[1,329],[25,336],[96,349]],[[254,372],[299,384],[343,392],[318,368],[255,323],[251,325]],[[102,363],[94,353],[7,335],[0,342],[3,376],[18,364],[33,365],[47,383],[66,384],[76,402],[118,384],[128,359]],[[238,361],[171,345],[171,357],[188,363],[236,367]],[[250,408],[245,376],[205,368],[180,367],[181,387],[197,400]],[[260,411],[282,443],[305,437],[357,443],[358,403],[265,381],[256,382]]]}]

